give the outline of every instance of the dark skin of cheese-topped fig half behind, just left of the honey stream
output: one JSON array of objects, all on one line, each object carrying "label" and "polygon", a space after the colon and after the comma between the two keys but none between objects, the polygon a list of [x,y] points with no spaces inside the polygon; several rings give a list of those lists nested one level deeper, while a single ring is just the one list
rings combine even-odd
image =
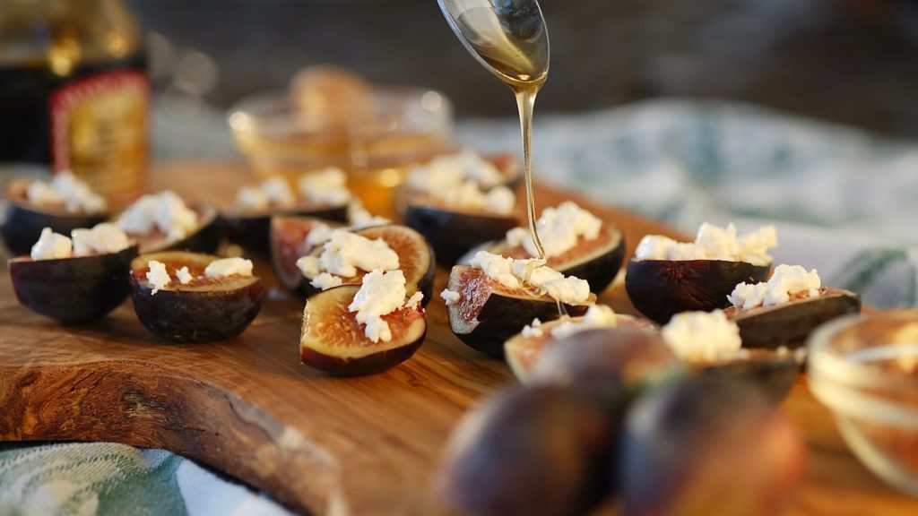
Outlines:
[{"label": "dark skin of cheese-topped fig half behind, just left of the honey stream", "polygon": [[424,235],[437,254],[437,264],[451,267],[469,250],[504,237],[520,222],[515,217],[451,211],[409,204],[405,225]]}]

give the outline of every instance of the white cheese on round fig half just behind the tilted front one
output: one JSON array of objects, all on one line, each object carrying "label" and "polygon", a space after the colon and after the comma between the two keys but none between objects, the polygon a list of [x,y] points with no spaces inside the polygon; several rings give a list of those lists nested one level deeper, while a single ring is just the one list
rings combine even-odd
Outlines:
[{"label": "white cheese on round fig half just behind the tilted front one", "polygon": [[358,269],[395,270],[398,254],[382,239],[370,240],[348,230],[332,230],[319,257],[303,256],[297,260],[297,267],[309,279],[322,272],[351,277],[357,275]]}]

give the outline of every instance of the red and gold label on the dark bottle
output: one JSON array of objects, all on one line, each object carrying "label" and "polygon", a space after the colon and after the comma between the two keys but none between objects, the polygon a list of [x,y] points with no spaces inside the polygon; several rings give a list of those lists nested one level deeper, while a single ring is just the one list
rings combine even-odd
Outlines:
[{"label": "red and gold label on the dark bottle", "polygon": [[96,73],[50,97],[51,164],[99,193],[140,192],[147,166],[150,81],[135,70]]}]

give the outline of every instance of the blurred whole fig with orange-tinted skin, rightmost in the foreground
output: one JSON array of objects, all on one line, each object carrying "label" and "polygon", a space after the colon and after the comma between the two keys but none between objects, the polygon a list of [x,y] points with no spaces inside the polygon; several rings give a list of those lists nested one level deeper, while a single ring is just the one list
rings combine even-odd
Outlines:
[{"label": "blurred whole fig with orange-tinted skin, rightmost in the foreground", "polygon": [[771,516],[800,486],[805,448],[755,387],[699,377],[635,403],[616,462],[625,516]]}]

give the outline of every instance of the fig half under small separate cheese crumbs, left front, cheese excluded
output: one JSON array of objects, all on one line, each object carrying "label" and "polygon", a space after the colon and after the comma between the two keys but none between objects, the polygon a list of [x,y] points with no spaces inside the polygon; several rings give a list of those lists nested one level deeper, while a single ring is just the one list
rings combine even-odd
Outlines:
[{"label": "fig half under small separate cheese crumbs, left front, cheese excluded", "polygon": [[[141,254],[130,264],[131,294],[140,322],[172,342],[229,339],[248,328],[262,308],[264,286],[258,276],[207,277],[217,256],[166,251]],[[165,264],[171,282],[153,293],[147,280],[151,261]],[[192,280],[183,285],[176,271],[188,267]]]}]

